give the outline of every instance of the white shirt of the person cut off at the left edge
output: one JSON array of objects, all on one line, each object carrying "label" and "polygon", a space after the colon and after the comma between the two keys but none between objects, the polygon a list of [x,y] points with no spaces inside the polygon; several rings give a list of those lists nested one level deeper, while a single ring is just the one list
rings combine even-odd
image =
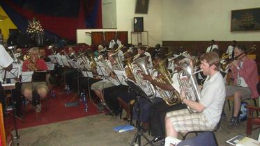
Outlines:
[{"label": "white shirt of the person cut off at the left edge", "polygon": [[[7,53],[6,49],[4,49],[3,45],[0,44],[0,65],[1,67],[8,67],[10,64],[13,63],[13,58]],[[0,81],[2,82],[3,80],[1,79],[0,76]]]}]

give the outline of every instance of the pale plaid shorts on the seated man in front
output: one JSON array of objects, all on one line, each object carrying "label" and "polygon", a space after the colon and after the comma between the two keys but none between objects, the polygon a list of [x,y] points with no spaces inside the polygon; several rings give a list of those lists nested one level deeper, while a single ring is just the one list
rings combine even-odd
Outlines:
[{"label": "pale plaid shorts on the seated man in front", "polygon": [[180,133],[189,131],[211,131],[215,129],[216,124],[211,124],[202,113],[190,114],[188,109],[168,112],[167,117],[171,119],[174,129]]}]

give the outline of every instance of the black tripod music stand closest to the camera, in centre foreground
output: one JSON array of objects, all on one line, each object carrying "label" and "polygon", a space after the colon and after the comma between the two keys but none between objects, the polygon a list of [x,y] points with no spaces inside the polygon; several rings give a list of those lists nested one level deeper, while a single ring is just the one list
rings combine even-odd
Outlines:
[{"label": "black tripod music stand closest to the camera, in centre foreground", "polygon": [[135,85],[135,83],[132,83],[131,81],[126,81],[128,83],[128,86],[132,88],[132,90],[136,93],[137,97],[135,102],[137,102],[137,133],[135,133],[135,137],[132,139],[132,142],[130,143],[130,146],[133,146],[135,142],[140,146],[141,145],[141,136],[144,137],[144,139],[153,146],[153,143],[151,143],[151,140],[149,140],[145,135],[144,132],[141,130],[141,110],[140,110],[140,101],[139,99],[145,98],[148,99],[148,101],[153,102],[146,93],[140,88],[139,86]]}]

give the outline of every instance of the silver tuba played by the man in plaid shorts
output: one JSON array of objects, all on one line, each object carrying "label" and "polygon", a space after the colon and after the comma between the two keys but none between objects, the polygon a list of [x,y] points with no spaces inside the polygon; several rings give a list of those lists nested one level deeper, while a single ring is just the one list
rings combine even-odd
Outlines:
[{"label": "silver tuba played by the man in plaid shorts", "polygon": [[[181,90],[185,93],[186,99],[199,102],[201,99],[201,94],[197,80],[194,76],[197,72],[194,72],[192,60],[190,58],[183,58],[182,60],[179,60],[176,65],[182,69],[178,72],[178,82],[180,83]],[[189,106],[187,106],[187,108],[190,113],[196,112]]]}]

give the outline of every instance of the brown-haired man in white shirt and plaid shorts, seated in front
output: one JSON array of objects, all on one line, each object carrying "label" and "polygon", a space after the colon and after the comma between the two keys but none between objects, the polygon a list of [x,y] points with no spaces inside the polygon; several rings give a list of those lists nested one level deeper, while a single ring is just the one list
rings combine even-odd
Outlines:
[{"label": "brown-haired man in white shirt and plaid shorts, seated in front", "polygon": [[207,75],[201,90],[200,102],[185,98],[181,91],[181,101],[197,113],[190,114],[188,109],[171,111],[165,117],[167,136],[177,138],[178,132],[212,130],[220,120],[226,96],[224,79],[220,74],[220,58],[215,52],[203,54],[200,68]]}]

